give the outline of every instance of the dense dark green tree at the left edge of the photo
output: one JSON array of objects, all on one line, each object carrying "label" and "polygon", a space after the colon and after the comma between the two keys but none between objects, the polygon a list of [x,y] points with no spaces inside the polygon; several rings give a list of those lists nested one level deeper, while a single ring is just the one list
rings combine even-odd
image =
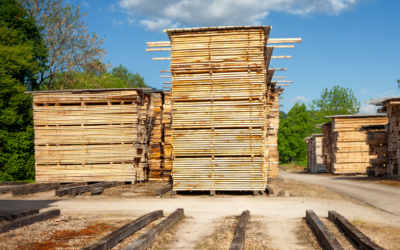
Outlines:
[{"label": "dense dark green tree at the left edge of the photo", "polygon": [[[7,13],[4,13],[7,12]],[[39,29],[13,0],[0,1],[0,179],[34,178],[32,99],[26,85],[35,85],[45,58]]]}]

